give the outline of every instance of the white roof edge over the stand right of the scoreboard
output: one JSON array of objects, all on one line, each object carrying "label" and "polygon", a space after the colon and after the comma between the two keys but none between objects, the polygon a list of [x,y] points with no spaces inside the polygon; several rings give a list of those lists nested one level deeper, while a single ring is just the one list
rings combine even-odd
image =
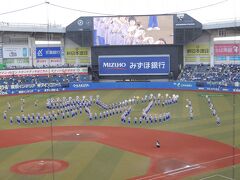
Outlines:
[{"label": "white roof edge over the stand right of the scoreboard", "polygon": [[240,20],[216,21],[203,24],[204,30],[223,29],[223,28],[240,28]]}]

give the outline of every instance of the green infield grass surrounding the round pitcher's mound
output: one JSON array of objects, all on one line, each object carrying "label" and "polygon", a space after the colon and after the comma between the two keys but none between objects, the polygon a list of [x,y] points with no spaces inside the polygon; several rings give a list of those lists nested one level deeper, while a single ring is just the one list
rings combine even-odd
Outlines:
[{"label": "green infield grass surrounding the round pitcher's mound", "polygon": [[22,161],[51,159],[52,147],[54,159],[70,163],[66,170],[55,173],[54,179],[127,179],[143,175],[149,166],[149,159],[144,156],[103,144],[61,141],[52,146],[51,142],[41,142],[0,149],[0,179],[52,179],[52,174],[20,175],[9,170]]}]

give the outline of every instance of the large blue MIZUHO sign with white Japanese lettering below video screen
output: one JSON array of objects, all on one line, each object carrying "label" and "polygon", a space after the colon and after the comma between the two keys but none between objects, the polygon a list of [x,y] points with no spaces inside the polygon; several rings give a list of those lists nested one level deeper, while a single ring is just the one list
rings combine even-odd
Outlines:
[{"label": "large blue MIZUHO sign with white Japanese lettering below video screen", "polygon": [[99,75],[168,75],[169,55],[99,56]]}]

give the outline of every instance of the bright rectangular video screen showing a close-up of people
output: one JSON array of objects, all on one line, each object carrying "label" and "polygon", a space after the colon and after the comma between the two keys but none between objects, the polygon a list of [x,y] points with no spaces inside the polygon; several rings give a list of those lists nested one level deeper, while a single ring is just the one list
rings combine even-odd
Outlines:
[{"label": "bright rectangular video screen showing a close-up of people", "polygon": [[173,15],[94,17],[94,46],[173,44]]}]

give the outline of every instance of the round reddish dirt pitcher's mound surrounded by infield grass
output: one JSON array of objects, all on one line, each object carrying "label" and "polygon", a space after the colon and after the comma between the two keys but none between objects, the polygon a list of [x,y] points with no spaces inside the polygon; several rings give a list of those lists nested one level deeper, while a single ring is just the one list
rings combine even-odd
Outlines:
[{"label": "round reddish dirt pitcher's mound surrounded by infield grass", "polygon": [[63,171],[67,167],[66,161],[37,159],[17,163],[11,167],[11,171],[17,174],[39,175]]}]

